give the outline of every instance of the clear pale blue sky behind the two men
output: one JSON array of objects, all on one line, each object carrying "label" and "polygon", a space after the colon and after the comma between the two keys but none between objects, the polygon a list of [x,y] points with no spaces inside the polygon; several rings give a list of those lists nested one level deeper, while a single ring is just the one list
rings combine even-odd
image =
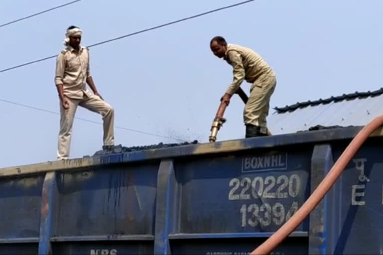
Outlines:
[{"label": "clear pale blue sky behind the two men", "polygon": [[[68,0],[1,0],[0,23]],[[237,0],[82,0],[0,27],[0,69],[55,55],[65,29],[80,26],[84,45],[238,2]],[[91,71],[116,110],[115,125],[207,142],[231,67],[212,55],[222,35],[251,47],[275,69],[271,107],[382,87],[382,0],[258,0],[92,47]],[[54,112],[55,59],[0,73],[0,98]],[[249,84],[242,88],[248,93]],[[243,103],[233,98],[218,139],[244,136]],[[273,111],[270,111],[270,114]],[[76,117],[101,122],[81,108]],[[59,116],[0,102],[0,167],[55,160]],[[116,128],[124,146],[177,142]],[[75,120],[71,157],[102,146],[102,126]]]}]

